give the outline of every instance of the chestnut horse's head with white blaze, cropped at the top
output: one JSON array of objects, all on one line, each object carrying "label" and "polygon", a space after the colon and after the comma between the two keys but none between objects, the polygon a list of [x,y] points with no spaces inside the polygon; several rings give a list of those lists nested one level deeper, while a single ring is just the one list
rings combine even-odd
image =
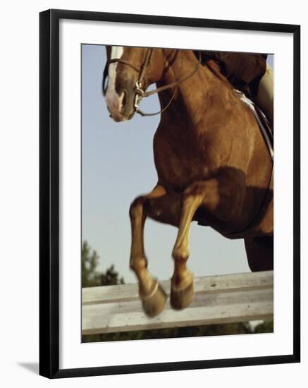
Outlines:
[{"label": "chestnut horse's head with white blaze, cropped at the top", "polygon": [[129,120],[135,114],[138,97],[156,83],[164,71],[162,49],[107,46],[103,89],[107,108],[114,121]]}]

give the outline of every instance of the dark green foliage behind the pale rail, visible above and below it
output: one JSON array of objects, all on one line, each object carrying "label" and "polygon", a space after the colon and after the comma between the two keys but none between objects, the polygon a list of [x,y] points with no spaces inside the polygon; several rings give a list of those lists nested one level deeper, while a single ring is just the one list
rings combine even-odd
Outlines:
[{"label": "dark green foliage behind the pale rail, visible above and below it", "polygon": [[[106,272],[98,272],[99,256],[85,241],[82,244],[82,287],[110,286],[124,284],[123,277],[111,265]],[[227,334],[252,334],[273,332],[273,322],[263,322],[254,329],[249,322],[227,323],[193,327],[171,327],[169,329],[135,330],[133,332],[89,334],[82,336],[82,342],[126,341],[132,339],[159,339],[179,337],[204,337]]]}]

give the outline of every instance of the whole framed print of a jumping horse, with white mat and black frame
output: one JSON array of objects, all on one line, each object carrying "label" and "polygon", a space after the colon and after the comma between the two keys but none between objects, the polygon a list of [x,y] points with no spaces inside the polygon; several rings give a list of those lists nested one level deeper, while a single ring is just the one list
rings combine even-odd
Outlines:
[{"label": "whole framed print of a jumping horse, with white mat and black frame", "polygon": [[39,36],[40,374],[299,362],[300,26]]}]

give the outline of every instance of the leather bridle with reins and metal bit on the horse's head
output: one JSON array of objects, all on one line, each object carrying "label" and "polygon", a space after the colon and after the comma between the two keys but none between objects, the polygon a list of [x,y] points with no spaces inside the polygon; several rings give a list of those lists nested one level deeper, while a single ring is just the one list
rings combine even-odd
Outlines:
[{"label": "leather bridle with reins and metal bit on the horse's head", "polygon": [[[144,58],[144,62],[142,63],[141,67],[137,67],[137,66],[133,65],[133,63],[130,63],[129,61],[125,61],[125,59],[113,58],[113,59],[109,59],[108,61],[106,61],[106,66],[104,68],[104,75],[103,75],[103,93],[104,93],[104,95],[106,95],[106,90],[107,90],[106,78],[108,77],[109,65],[111,63],[122,63],[123,65],[126,65],[126,66],[129,66],[130,68],[133,68],[133,70],[135,70],[137,73],[139,73],[138,79],[135,83],[134,109],[135,109],[135,112],[141,114],[141,116],[155,116],[156,114],[161,114],[163,111],[165,111],[170,106],[171,102],[173,101],[173,98],[175,97],[175,93],[176,93],[178,85],[180,83],[183,83],[185,80],[188,80],[189,78],[191,78],[192,75],[194,75],[197,72],[197,70],[201,64],[201,59],[202,59],[201,51],[198,51],[199,52],[199,61],[197,63],[197,66],[195,67],[195,69],[190,74],[188,74],[184,78],[180,77],[178,80],[175,80],[173,83],[168,83],[168,85],[156,87],[156,89],[149,90],[148,92],[146,92],[145,90],[142,89],[142,80],[144,80],[144,73],[145,73],[147,66],[149,66],[149,63],[152,59],[153,50],[154,49],[152,49],[152,48],[147,49],[147,52],[146,52],[146,55]],[[176,50],[176,54],[178,54],[178,52],[180,52],[179,49]],[[155,93],[163,92],[164,90],[171,89],[171,87],[175,87],[173,95],[171,96],[171,99],[169,100],[168,104],[166,104],[166,106],[164,108],[162,108],[160,111],[157,111],[154,113],[144,113],[140,109],[140,102],[142,101],[142,99],[144,97],[149,97],[149,96],[154,95]]]}]

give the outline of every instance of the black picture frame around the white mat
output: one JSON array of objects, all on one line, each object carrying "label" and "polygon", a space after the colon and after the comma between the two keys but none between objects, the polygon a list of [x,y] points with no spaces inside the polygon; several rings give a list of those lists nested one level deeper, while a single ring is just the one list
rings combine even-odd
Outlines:
[{"label": "black picture frame around the white mat", "polygon": [[[293,37],[293,352],[280,356],[59,369],[59,20],[284,32]],[[300,25],[48,10],[39,14],[39,374],[49,378],[300,362]]]}]

